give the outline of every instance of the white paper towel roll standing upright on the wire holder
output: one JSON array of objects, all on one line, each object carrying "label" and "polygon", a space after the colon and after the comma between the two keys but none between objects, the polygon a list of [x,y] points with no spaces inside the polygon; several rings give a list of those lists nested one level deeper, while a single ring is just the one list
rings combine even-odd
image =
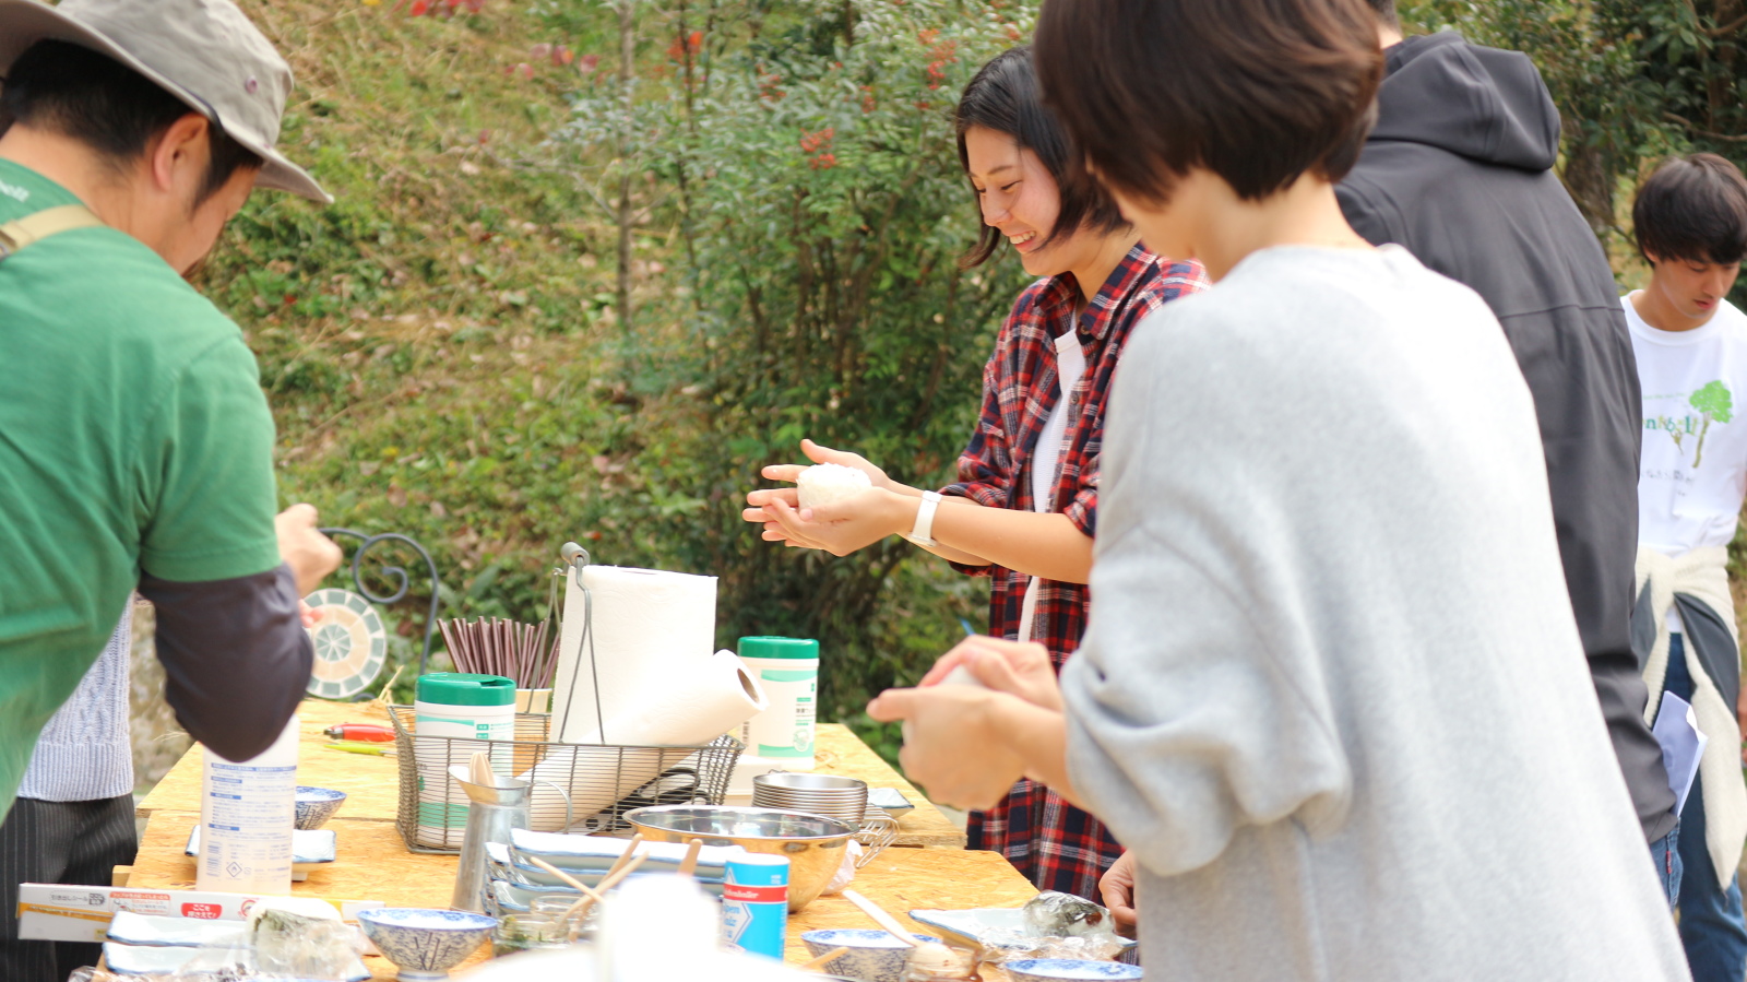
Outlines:
[{"label": "white paper towel roll standing upright on the wire holder", "polygon": [[[594,664],[583,645],[587,605],[592,596]],[[594,743],[592,734],[625,708],[660,702],[678,678],[702,669],[716,647],[716,578],[585,566],[564,591],[564,629],[559,638],[557,680],[552,687],[552,729],[563,743]],[[599,692],[596,692],[599,681]],[[606,727],[606,739],[625,744],[632,737]]]}]

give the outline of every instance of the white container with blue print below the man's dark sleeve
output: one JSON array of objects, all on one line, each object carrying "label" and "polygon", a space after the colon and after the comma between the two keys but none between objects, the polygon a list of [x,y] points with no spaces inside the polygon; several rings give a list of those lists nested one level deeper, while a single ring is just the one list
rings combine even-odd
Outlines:
[{"label": "white container with blue print below the man's dark sleeve", "polygon": [[217,893],[292,893],[297,819],[297,716],[243,762],[203,748],[201,854],[194,886]]}]

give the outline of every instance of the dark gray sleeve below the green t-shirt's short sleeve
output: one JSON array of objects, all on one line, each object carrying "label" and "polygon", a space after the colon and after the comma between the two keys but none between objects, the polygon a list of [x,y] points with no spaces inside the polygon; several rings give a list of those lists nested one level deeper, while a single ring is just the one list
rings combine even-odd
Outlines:
[{"label": "dark gray sleeve below the green t-shirt's short sleeve", "polygon": [[290,566],[197,584],[142,577],[140,594],[157,606],[164,695],[189,736],[225,760],[273,746],[314,662]]}]

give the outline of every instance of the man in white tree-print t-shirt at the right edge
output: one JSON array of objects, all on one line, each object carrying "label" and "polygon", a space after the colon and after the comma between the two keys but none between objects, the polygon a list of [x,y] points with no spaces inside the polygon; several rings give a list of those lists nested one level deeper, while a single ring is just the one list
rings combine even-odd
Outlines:
[{"label": "man in white tree-print t-shirt at the right edge", "polygon": [[1651,264],[1649,287],[1621,301],[1644,390],[1633,647],[1647,716],[1679,695],[1709,741],[1681,811],[1686,958],[1695,982],[1740,982],[1747,702],[1726,566],[1747,494],[1747,315],[1726,295],[1747,253],[1747,180],[1716,154],[1672,159],[1639,189],[1632,220]]}]

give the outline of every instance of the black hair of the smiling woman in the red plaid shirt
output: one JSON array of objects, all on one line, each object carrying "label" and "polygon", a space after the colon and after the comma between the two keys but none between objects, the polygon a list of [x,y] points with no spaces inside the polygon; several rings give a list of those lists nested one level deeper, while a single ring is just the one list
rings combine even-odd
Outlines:
[{"label": "black hair of the smiling woman in the red plaid shirt", "polygon": [[[970,86],[964,86],[964,94],[959,98],[954,124],[959,131],[959,164],[964,173],[971,169],[964,133],[973,126],[1005,133],[1022,149],[1038,156],[1043,168],[1055,178],[1062,197],[1050,238],[1073,234],[1081,227],[1097,232],[1129,227],[1109,194],[1097,182],[1074,173],[1076,168],[1071,166],[1067,150],[1067,133],[1043,105],[1038,72],[1031,63],[1031,45],[1003,51],[977,70],[977,77],[971,79]],[[966,269],[982,266],[999,246],[1001,231],[994,225],[984,225],[977,245],[964,253],[961,264]]]}]

